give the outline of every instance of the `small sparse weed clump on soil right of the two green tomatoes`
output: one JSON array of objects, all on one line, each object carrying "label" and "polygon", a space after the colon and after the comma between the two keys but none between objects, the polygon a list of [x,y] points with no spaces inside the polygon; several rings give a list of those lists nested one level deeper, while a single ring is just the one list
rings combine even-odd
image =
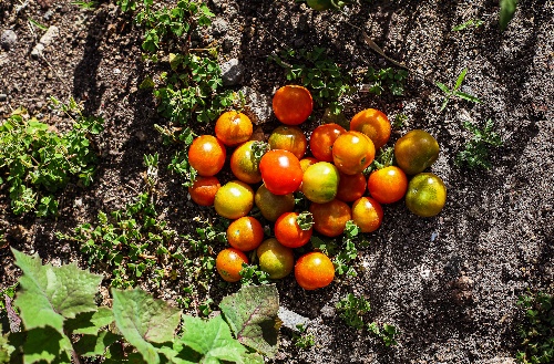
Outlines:
[{"label": "small sparse weed clump on soil right of the two green tomatoes", "polygon": [[500,135],[493,132],[494,123],[488,119],[483,129],[480,129],[470,122],[464,122],[463,126],[473,135],[465,144],[464,150],[458,153],[455,157],[456,166],[468,166],[470,169],[475,168],[491,168],[489,162],[489,148],[502,145]]}]

